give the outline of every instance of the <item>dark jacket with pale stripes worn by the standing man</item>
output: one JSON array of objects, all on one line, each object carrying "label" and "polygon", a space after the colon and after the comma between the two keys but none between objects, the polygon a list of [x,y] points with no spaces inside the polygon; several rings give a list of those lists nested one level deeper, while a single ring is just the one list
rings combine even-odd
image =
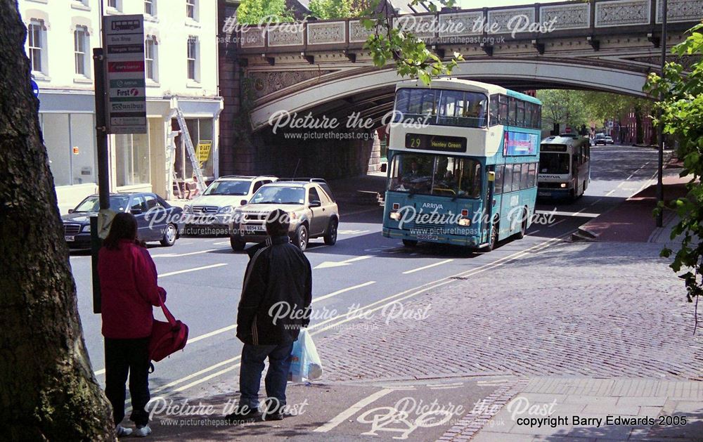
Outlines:
[{"label": "dark jacket with pale stripes worn by the standing man", "polygon": [[[237,337],[252,345],[288,344],[310,323],[312,269],[288,235],[248,250],[237,313]],[[273,308],[272,308],[273,307]]]}]

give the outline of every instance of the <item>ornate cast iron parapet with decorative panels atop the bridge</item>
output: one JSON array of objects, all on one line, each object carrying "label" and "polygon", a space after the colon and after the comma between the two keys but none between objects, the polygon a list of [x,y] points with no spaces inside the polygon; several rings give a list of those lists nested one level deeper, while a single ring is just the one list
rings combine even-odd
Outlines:
[{"label": "ornate cast iron parapet with decorative panels atop the bridge", "polygon": [[[412,30],[441,56],[445,49],[477,42],[482,42],[486,55],[491,56],[493,46],[487,37],[530,41],[540,54],[544,52],[543,41],[573,37],[587,39],[596,51],[602,37],[619,34],[646,34],[658,46],[662,1],[589,0],[452,10],[399,15],[394,25]],[[703,0],[669,0],[668,10],[669,29],[680,32],[703,18]],[[354,62],[370,32],[358,19],[247,27],[238,31],[238,51],[240,56],[262,56],[271,65],[283,53],[301,54],[313,64],[314,53],[324,51],[340,51]]]}]

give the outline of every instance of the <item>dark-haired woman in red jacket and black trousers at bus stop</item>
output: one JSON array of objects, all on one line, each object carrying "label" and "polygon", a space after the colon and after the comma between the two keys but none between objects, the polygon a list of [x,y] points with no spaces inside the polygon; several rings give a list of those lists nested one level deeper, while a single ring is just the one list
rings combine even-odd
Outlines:
[{"label": "dark-haired woman in red jacket and black trousers at bus stop", "polygon": [[[117,436],[147,436],[149,416],[149,337],[154,320],[152,306],[166,292],[157,285],[154,261],[136,238],[134,215],[115,215],[108,238],[98,255],[105,337],[105,395],[112,403]],[[129,372],[132,412],[136,430],[120,426],[124,418],[124,383]]]}]

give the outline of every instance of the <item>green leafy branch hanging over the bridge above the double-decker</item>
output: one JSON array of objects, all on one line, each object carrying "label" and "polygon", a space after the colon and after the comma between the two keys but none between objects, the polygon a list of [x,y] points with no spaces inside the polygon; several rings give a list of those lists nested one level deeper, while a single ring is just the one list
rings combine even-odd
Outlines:
[{"label": "green leafy branch hanging over the bridge above the double-decker", "polygon": [[[454,0],[438,0],[441,6],[451,7]],[[413,0],[411,5],[417,6],[420,0]],[[449,75],[459,61],[464,58],[460,53],[453,53],[451,61],[444,62],[437,54],[427,48],[425,42],[416,37],[413,32],[401,30],[392,24],[393,11],[389,11],[389,2],[384,1],[380,12],[376,13],[380,0],[371,0],[368,8],[361,13],[367,17],[361,20],[367,30],[374,30],[364,44],[373,58],[376,67],[385,67],[389,62],[394,63],[401,77],[420,79],[429,84],[432,77]],[[437,12],[437,4],[425,3],[430,11]]]}]

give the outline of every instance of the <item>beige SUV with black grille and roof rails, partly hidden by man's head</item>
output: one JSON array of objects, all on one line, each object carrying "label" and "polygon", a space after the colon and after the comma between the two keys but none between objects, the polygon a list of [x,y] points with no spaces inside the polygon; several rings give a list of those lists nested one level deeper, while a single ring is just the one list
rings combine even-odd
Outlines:
[{"label": "beige SUV with black grille and roof rails, partly hidden by man's head", "polygon": [[340,212],[327,182],[321,178],[297,178],[262,186],[249,204],[238,207],[230,230],[232,249],[244,249],[247,242],[266,239],[266,215],[281,209],[290,215],[290,240],[301,250],[310,238],[324,238],[326,245],[337,242]]}]

